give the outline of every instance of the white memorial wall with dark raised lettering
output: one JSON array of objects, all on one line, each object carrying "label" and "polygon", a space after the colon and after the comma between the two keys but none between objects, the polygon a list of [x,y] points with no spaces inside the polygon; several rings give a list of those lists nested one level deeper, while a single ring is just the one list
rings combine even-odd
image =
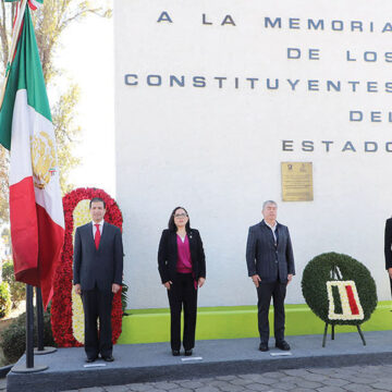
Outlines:
[{"label": "white memorial wall with dark raised lettering", "polygon": [[[287,303],[304,303],[303,269],[332,250],[364,262],[379,299],[390,298],[390,10],[389,0],[114,1],[117,198],[131,307],[167,306],[157,248],[177,205],[205,244],[199,305],[255,304],[245,244],[265,199],[278,201],[292,235]],[[287,59],[289,48],[301,58]],[[184,86],[170,86],[170,75]],[[268,78],[279,88],[268,89]],[[351,111],[363,121],[350,121]],[[292,140],[287,150],[282,140]],[[323,142],[333,142],[329,151]],[[378,150],[365,151],[365,142]],[[282,161],[313,162],[314,201],[281,201]]]}]

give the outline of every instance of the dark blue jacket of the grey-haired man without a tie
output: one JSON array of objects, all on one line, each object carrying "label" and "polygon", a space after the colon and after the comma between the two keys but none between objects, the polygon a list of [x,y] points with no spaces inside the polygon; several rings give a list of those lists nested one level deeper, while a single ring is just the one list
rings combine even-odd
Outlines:
[{"label": "dark blue jacket of the grey-haired man without a tie", "polygon": [[264,282],[274,282],[279,272],[280,281],[286,283],[287,274],[295,274],[293,247],[289,229],[283,224],[277,224],[277,247],[272,230],[264,220],[249,228],[246,264],[249,277],[258,274]]}]

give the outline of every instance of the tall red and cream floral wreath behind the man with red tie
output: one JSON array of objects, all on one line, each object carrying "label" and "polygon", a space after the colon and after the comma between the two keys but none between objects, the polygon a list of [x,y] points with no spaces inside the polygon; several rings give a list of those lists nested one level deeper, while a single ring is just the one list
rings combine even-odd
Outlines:
[{"label": "tall red and cream floral wreath behind the man with red tie", "polygon": [[[73,291],[73,237],[77,226],[90,222],[89,200],[100,197],[106,203],[105,220],[122,229],[122,213],[115,200],[98,188],[77,188],[63,197],[65,236],[61,262],[53,281],[51,324],[59,347],[79,347],[84,344],[84,311],[79,295]],[[122,326],[121,290],[113,296],[112,342],[118,341]]]}]

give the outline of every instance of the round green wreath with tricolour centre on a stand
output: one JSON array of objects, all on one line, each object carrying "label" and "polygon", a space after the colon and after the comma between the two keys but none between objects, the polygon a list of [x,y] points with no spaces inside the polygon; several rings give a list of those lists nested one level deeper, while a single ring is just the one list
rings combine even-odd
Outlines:
[{"label": "round green wreath with tricolour centre on a stand", "polygon": [[335,326],[356,326],[366,345],[360,324],[367,321],[377,306],[376,282],[369,270],[354,258],[336,253],[316,256],[305,267],[302,290],[309,308],[326,322],[334,340]]}]

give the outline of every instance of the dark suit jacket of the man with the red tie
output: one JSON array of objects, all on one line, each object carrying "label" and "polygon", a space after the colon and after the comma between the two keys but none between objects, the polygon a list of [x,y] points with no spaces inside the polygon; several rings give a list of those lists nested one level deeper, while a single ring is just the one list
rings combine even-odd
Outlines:
[{"label": "dark suit jacket of the man with the red tie", "polygon": [[123,245],[118,226],[103,222],[98,249],[93,237],[93,223],[76,229],[74,244],[74,284],[82,290],[111,291],[113,283],[122,283]]}]

